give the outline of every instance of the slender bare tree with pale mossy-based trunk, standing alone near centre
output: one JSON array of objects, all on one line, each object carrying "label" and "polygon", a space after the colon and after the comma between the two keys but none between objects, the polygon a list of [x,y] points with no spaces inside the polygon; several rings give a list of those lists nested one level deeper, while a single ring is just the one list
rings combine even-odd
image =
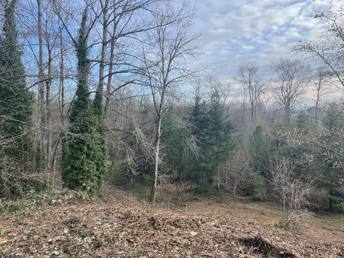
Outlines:
[{"label": "slender bare tree with pale mossy-based trunk, standing alone near centre", "polygon": [[166,111],[165,101],[175,98],[176,88],[198,71],[186,67],[187,58],[198,58],[202,54],[199,41],[202,34],[189,34],[187,30],[196,17],[196,9],[184,1],[180,6],[172,4],[158,6],[161,14],[154,15],[155,28],[147,32],[150,51],[144,47],[142,70],[144,85],[151,90],[155,116],[154,170],[151,200],[155,202],[159,163],[161,162],[161,121]]}]

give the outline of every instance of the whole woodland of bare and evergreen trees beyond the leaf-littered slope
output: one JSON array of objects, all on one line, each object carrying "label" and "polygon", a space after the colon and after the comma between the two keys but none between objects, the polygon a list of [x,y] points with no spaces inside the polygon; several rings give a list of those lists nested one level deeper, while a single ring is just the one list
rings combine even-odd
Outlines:
[{"label": "whole woodland of bare and evergreen trees beyond the leaf-littered slope", "polygon": [[344,212],[343,6],[311,14],[318,36],[268,76],[250,60],[223,80],[189,65],[192,2],[0,2],[2,207],[105,183],[152,203],[273,199],[288,226]]}]

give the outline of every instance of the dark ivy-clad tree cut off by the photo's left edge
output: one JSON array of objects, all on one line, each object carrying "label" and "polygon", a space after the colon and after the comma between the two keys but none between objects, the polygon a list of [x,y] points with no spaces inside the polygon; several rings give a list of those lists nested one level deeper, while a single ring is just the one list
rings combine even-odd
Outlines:
[{"label": "dark ivy-clad tree cut off by the photo's left edge", "polygon": [[4,20],[3,36],[0,38],[0,170],[7,176],[5,181],[0,176],[0,197],[5,196],[5,192],[7,195],[23,193],[21,170],[29,171],[33,153],[32,141],[28,135],[28,127],[32,122],[33,95],[25,84],[22,52],[17,42],[15,2],[2,2]]}]

